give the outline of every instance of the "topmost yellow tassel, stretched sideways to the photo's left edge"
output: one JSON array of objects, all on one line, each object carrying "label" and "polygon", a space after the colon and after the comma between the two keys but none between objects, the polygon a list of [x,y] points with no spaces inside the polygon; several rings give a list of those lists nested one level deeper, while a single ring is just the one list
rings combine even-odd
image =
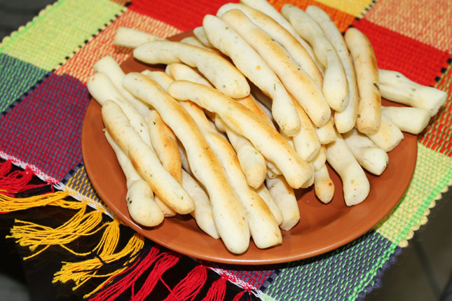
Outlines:
[{"label": "topmost yellow tassel, stretched sideways to the photo's left edge", "polygon": [[[69,202],[64,201],[63,199],[64,197],[68,196],[69,193],[67,193],[66,191],[57,191],[56,193],[47,193],[45,195],[36,195],[33,197],[22,197],[22,198],[8,197],[8,195],[0,194],[0,212],[20,211],[34,207],[43,207],[46,205],[67,207],[71,206],[71,204],[66,204]],[[76,205],[76,207],[79,206]]]}]

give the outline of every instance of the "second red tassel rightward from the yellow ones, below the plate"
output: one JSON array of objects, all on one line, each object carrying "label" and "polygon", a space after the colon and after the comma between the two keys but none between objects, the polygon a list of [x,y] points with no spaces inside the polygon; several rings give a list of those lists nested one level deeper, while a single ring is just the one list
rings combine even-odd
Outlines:
[{"label": "second red tassel rightward from the yellow ones, below the plate", "polygon": [[[144,282],[142,288],[134,294],[132,291],[131,300],[133,301],[142,301],[145,300],[146,297],[151,294],[153,288],[156,286],[159,279],[162,279],[163,273],[165,273],[168,269],[173,267],[178,261],[180,256],[174,255],[173,253],[162,253],[160,254],[161,258],[156,262],[153,269],[149,273]],[[134,286],[135,288],[135,286]]]}]

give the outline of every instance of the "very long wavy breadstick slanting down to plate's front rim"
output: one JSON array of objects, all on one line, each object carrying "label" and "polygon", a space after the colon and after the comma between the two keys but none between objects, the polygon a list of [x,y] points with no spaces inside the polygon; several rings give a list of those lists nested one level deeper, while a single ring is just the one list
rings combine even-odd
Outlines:
[{"label": "very long wavy breadstick slanting down to plate's front rim", "polygon": [[135,97],[151,104],[181,141],[191,172],[210,197],[215,225],[226,248],[233,253],[245,252],[249,246],[249,228],[242,204],[235,197],[224,168],[193,118],[158,83],[141,73],[128,73],[123,85]]}]

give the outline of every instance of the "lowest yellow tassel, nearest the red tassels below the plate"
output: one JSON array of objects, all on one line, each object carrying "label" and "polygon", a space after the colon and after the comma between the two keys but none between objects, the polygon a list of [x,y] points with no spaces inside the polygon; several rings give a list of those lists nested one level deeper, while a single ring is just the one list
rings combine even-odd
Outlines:
[{"label": "lowest yellow tassel, nearest the red tassels below the plate", "polygon": [[[118,253],[108,253],[107,248],[104,248],[104,254],[99,254],[100,258],[102,258],[102,261],[100,260],[100,258],[92,258],[84,260],[82,262],[67,262],[59,272],[55,273],[53,283],[57,281],[61,281],[62,283],[66,283],[67,281],[74,281],[76,285],[74,286],[74,288],[72,288],[72,290],[76,290],[91,278],[108,277],[107,280],[102,282],[99,286],[97,286],[97,288],[95,288],[95,290],[86,294],[84,297],[93,295],[93,293],[96,293],[97,290],[100,290],[105,283],[110,281],[111,276],[119,274],[123,272],[123,270],[127,269],[128,262],[134,260],[134,255],[138,251],[140,251],[143,246],[144,238],[141,235],[135,233],[135,235],[128,241],[128,244]],[[130,260],[127,260],[127,262],[124,263],[124,267],[116,269],[115,271],[109,272],[107,274],[97,274],[98,272],[100,272],[100,267],[104,265],[104,262],[114,262],[121,258],[125,258],[126,256],[128,256]]]}]

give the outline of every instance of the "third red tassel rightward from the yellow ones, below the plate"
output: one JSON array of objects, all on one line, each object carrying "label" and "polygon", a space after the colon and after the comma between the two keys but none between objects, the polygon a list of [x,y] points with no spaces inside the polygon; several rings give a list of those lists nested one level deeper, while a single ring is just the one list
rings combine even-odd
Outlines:
[{"label": "third red tassel rightward from the yellow ones, below the plate", "polygon": [[207,268],[204,265],[197,265],[170,290],[170,295],[164,301],[193,300],[203,288],[206,280]]}]

